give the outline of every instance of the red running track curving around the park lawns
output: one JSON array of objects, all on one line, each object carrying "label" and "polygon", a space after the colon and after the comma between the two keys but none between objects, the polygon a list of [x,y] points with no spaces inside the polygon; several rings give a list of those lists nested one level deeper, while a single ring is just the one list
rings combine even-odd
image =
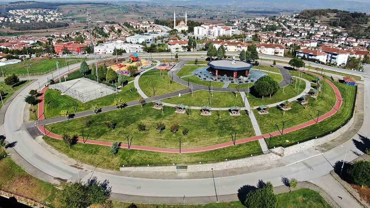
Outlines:
[{"label": "red running track curving around the park lawns", "polygon": [[[312,73],[312,72],[308,72],[308,73],[314,74],[315,76],[323,78],[319,74],[315,74],[315,73]],[[284,134],[292,132],[292,131],[296,131],[296,130],[299,130],[300,128],[305,128],[305,127],[308,127],[312,124],[320,122],[320,121],[324,120],[325,118],[328,118],[328,117],[332,116],[333,114],[335,114],[338,111],[338,109],[342,105],[342,96],[340,95],[340,92],[339,92],[338,88],[336,87],[336,85],[334,85],[332,82],[330,82],[327,79],[325,79],[325,81],[327,83],[329,83],[330,86],[332,86],[332,88],[334,90],[334,93],[336,95],[336,103],[335,103],[334,107],[332,108],[332,110],[330,110],[326,114],[323,114],[323,115],[319,116],[319,118],[316,121],[310,120],[310,121],[307,121],[306,123],[299,124],[299,125],[296,125],[294,127],[286,128],[286,129],[284,129],[284,132],[283,132]],[[46,88],[47,87],[43,88],[43,90],[41,90],[41,93],[44,93]],[[43,113],[41,113],[41,112],[43,112],[43,108],[44,108],[43,96],[40,97],[40,100],[41,100],[41,102],[38,104],[38,109],[39,109],[38,114],[39,114],[39,117],[43,119],[43,117],[41,117],[41,116],[43,116]],[[49,137],[53,137],[53,138],[60,139],[60,140],[62,139],[62,137],[60,135],[57,135],[57,134],[54,134],[54,133],[48,131],[42,125],[39,125],[38,129],[43,134],[45,134]],[[276,135],[280,135],[280,134],[281,134],[280,131],[275,131],[275,132],[272,132],[272,133],[269,133],[269,134],[263,134],[263,135],[259,135],[259,136],[243,138],[243,139],[240,139],[240,140],[236,140],[235,144],[241,144],[241,143],[245,143],[245,142],[248,142],[248,141],[254,141],[254,140],[259,140],[259,139],[262,139],[262,138],[267,138],[267,137],[270,137],[270,135],[271,136],[276,136]],[[100,145],[105,145],[105,146],[111,146],[112,145],[111,142],[96,141],[96,140],[83,140],[83,139],[80,139],[80,138],[78,138],[77,141],[87,143],[87,144],[100,144]],[[221,143],[221,144],[211,145],[211,146],[207,146],[207,147],[181,149],[181,152],[184,152],[184,153],[185,152],[202,152],[202,151],[215,150],[215,149],[218,149],[218,148],[228,147],[228,146],[232,146],[232,145],[234,145],[233,142],[229,141],[229,142],[224,142],[224,143]],[[120,147],[121,148],[128,148],[128,145],[127,144],[121,144]],[[139,145],[131,145],[130,149],[158,151],[158,152],[176,152],[176,153],[178,153],[180,151],[179,149],[173,149],[173,148],[147,147],[147,146],[139,146]]]}]

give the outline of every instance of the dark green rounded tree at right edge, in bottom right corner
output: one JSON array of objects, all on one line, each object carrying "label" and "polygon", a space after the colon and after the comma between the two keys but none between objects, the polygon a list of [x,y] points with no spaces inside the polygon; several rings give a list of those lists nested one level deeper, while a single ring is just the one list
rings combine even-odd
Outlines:
[{"label": "dark green rounded tree at right edge, in bottom right corner", "polygon": [[359,160],[354,162],[353,166],[348,171],[351,180],[360,186],[366,185],[370,187],[370,162]]}]

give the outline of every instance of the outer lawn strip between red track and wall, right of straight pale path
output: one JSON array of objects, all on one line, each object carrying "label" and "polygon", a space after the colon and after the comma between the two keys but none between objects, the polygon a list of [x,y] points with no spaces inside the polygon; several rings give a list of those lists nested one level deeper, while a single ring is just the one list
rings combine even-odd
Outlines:
[{"label": "outer lawn strip between red track and wall, right of straight pale path", "polygon": [[[339,111],[329,118],[320,121],[317,124],[310,125],[309,127],[302,128],[297,131],[289,132],[283,135],[277,135],[271,139],[271,147],[276,145],[288,145],[298,141],[305,140],[310,137],[316,137],[326,132],[333,131],[336,127],[342,125],[346,121],[352,111],[354,94],[356,87],[352,85],[346,85],[342,83],[335,83],[340,91],[340,94],[343,97],[342,106],[339,108]],[[323,88],[325,89],[325,88]],[[320,95],[319,95],[320,96]],[[308,107],[307,107],[308,108]],[[270,109],[271,110],[271,109]],[[302,116],[300,114],[299,116]],[[316,112],[317,116],[317,112]],[[281,127],[281,124],[280,124]],[[302,135],[305,135],[302,137]],[[288,140],[289,142],[287,142]]]}]

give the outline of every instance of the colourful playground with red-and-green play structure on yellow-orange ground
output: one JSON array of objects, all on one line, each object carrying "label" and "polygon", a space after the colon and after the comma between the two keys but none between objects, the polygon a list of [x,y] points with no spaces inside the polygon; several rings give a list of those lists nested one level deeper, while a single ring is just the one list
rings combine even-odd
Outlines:
[{"label": "colourful playground with red-and-green play structure on yellow-orange ground", "polygon": [[129,58],[126,58],[121,63],[115,63],[109,67],[112,68],[118,74],[124,74],[130,77],[132,74],[127,70],[128,66],[137,66],[139,72],[141,72],[144,71],[146,68],[152,66],[152,64],[153,64],[152,61],[143,60],[139,58],[137,53],[133,53],[131,54],[131,56],[129,56]]}]

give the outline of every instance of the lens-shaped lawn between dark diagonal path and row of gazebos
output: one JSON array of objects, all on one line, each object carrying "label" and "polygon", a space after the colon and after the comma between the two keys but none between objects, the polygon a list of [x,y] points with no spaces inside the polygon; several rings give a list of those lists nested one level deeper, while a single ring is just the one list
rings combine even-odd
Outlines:
[{"label": "lens-shaped lawn between dark diagonal path and row of gazebos", "polygon": [[243,107],[243,101],[239,93],[237,93],[237,97],[235,98],[234,93],[228,92],[213,92],[213,97],[210,103],[209,98],[211,94],[208,90],[199,90],[193,92],[193,96],[191,93],[182,95],[181,97],[171,97],[162,100],[165,103],[172,103],[172,104],[184,104],[189,106],[198,106],[201,107],[203,105],[210,106],[212,103],[212,107],[219,107],[219,108],[226,108],[231,107],[233,105]]}]

